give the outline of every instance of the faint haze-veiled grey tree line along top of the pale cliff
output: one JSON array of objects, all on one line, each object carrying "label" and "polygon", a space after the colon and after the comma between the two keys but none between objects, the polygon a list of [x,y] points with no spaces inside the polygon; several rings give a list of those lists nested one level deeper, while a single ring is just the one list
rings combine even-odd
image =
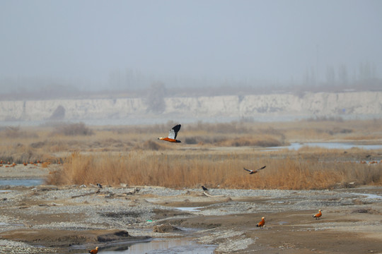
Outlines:
[{"label": "faint haze-veiled grey tree line along top of the pale cliff", "polygon": [[[357,70],[347,66],[326,66],[324,78],[316,68],[308,68],[301,81],[278,83],[267,80],[192,78],[146,75],[132,69],[110,72],[103,90],[80,90],[74,80],[54,78],[1,78],[0,100],[142,97],[149,111],[161,111],[164,97],[248,95],[276,92],[339,92],[343,90],[382,90],[374,63],[360,63]],[[171,92],[168,92],[171,90]]]}]

